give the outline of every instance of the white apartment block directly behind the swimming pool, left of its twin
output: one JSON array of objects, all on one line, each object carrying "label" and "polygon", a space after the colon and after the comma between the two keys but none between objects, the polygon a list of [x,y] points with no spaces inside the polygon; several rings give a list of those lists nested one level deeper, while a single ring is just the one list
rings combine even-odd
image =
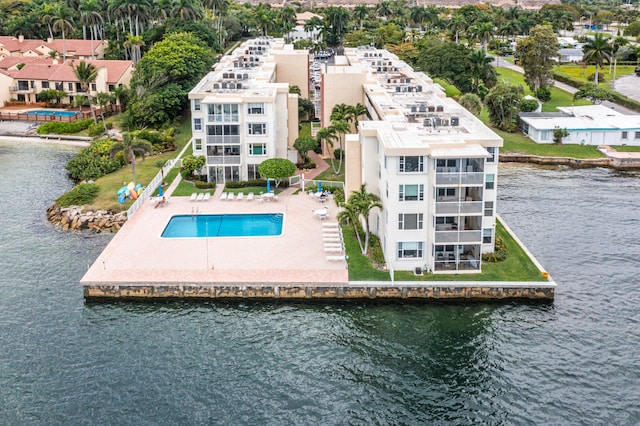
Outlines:
[{"label": "white apartment block directly behind the swimming pool, left of its twin", "polygon": [[298,95],[309,93],[309,55],[282,39],[244,42],[189,92],[193,153],[206,158],[207,178],[224,183],[259,178],[268,158],[297,152]]}]

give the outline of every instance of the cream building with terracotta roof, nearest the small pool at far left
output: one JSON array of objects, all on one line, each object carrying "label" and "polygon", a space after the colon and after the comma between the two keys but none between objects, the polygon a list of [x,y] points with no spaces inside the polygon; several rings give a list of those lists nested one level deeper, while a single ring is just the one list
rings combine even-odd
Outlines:
[{"label": "cream building with terracotta roof, nearest the small pool at far left", "polygon": [[[83,91],[76,78],[71,60],[60,63],[56,59],[38,57],[5,57],[0,60],[0,73],[11,82],[6,90],[0,90],[0,103],[11,99],[20,102],[37,102],[42,90],[63,90],[67,96],[63,103],[71,103],[78,95],[95,96],[98,92],[113,92],[116,87],[128,85],[133,72],[131,61],[86,60],[98,69],[95,83],[89,92]],[[76,65],[79,60],[73,61]],[[9,80],[7,80],[9,81]]]}]

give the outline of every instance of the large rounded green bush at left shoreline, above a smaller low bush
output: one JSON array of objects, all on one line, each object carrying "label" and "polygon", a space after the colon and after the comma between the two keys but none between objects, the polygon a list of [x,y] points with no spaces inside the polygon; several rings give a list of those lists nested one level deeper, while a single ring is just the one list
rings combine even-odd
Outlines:
[{"label": "large rounded green bush at left shoreline, above a smaller low bush", "polygon": [[97,179],[121,168],[125,164],[124,157],[111,158],[114,142],[112,139],[95,141],[80,151],[65,166],[69,176],[76,181]]}]

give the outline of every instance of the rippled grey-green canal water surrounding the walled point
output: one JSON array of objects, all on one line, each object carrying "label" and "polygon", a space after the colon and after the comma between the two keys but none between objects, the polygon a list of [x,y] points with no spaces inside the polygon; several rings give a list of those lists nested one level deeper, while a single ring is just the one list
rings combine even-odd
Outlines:
[{"label": "rippled grey-green canal water surrounding the walled point", "polygon": [[501,166],[553,303],[88,304],[75,151],[0,142],[2,424],[640,423],[638,174]]}]

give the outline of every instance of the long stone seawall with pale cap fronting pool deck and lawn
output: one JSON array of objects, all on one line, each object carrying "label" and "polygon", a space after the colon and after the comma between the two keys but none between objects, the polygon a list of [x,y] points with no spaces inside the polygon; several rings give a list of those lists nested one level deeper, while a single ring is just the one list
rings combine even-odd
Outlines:
[{"label": "long stone seawall with pale cap fronting pool deck and lawn", "polygon": [[553,300],[556,284],[448,282],[434,284],[83,284],[85,299],[284,299],[284,300]]}]

